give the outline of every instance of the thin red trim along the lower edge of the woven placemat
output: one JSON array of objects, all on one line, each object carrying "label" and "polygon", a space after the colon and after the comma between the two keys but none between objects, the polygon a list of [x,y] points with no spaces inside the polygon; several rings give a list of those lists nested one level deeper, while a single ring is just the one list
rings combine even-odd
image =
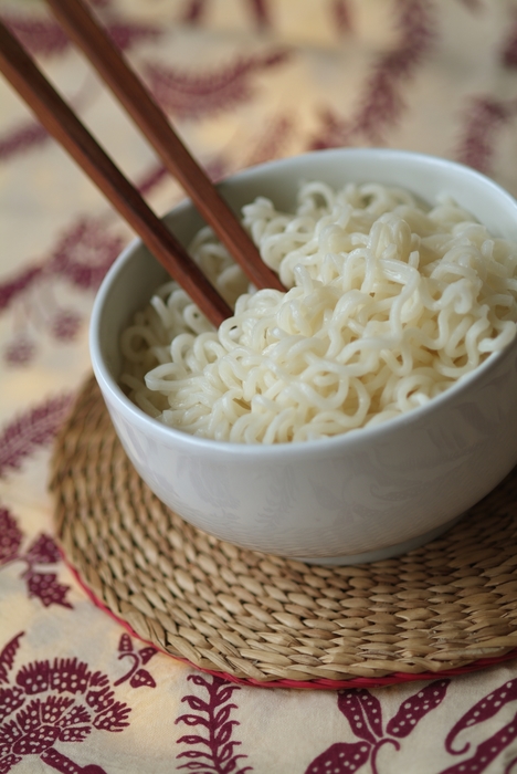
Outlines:
[{"label": "thin red trim along the lower edge of the woven placemat", "polygon": [[325,690],[325,691],[338,691],[344,688],[381,688],[383,686],[397,686],[402,682],[416,682],[419,680],[436,680],[436,678],[444,678],[444,677],[456,677],[458,674],[465,674],[467,672],[475,672],[478,671],[479,669],[485,669],[486,667],[494,667],[497,663],[502,663],[503,661],[509,661],[511,659],[517,658],[517,648],[513,648],[509,652],[503,655],[503,656],[494,656],[492,658],[482,658],[478,659],[477,661],[473,661],[472,663],[467,663],[465,667],[457,667],[456,669],[443,669],[440,672],[420,672],[419,674],[409,674],[408,672],[392,672],[391,674],[387,677],[380,677],[380,678],[365,678],[365,677],[358,677],[358,678],[350,678],[349,680],[328,680],[326,678],[321,678],[320,680],[271,680],[268,682],[261,682],[260,680],[254,680],[253,678],[238,678],[234,677],[233,674],[228,674],[226,672],[221,672],[212,669],[202,669],[201,667],[198,667],[196,663],[192,663],[186,658],[182,658],[181,656],[172,656],[172,653],[167,652],[167,650],[163,650],[162,648],[158,648],[155,642],[150,642],[149,640],[146,640],[144,637],[140,637],[130,626],[127,621],[123,620],[122,618],[118,618],[109,608],[106,607],[104,603],[102,603],[95,594],[86,586],[82,577],[80,576],[78,572],[75,569],[75,567],[68,562],[66,558],[65,554],[63,553],[63,550],[60,547],[60,553],[61,556],[63,557],[64,564],[68,567],[73,576],[75,577],[76,582],[81,586],[81,588],[85,592],[85,594],[89,597],[89,599],[94,603],[96,607],[98,607],[101,610],[106,613],[110,618],[113,618],[114,621],[123,626],[128,634],[131,635],[131,637],[136,637],[139,639],[141,642],[145,642],[146,645],[150,645],[155,650],[157,650],[160,653],[163,653],[165,656],[168,656],[169,658],[175,659],[176,661],[181,661],[181,663],[187,665],[188,667],[192,667],[193,669],[198,669],[201,672],[207,672],[208,674],[213,674],[214,677],[222,677],[225,680],[229,680],[229,682],[235,682],[240,686],[253,686],[256,688],[296,688],[296,689],[305,689],[305,690]]}]

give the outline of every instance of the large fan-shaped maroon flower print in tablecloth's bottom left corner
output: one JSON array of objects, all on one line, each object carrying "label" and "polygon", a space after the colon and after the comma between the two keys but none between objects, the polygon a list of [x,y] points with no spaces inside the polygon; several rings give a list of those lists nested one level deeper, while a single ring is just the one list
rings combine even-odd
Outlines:
[{"label": "large fan-shaped maroon flower print in tablecloth's bottom left corner", "polygon": [[129,707],[115,699],[106,674],[75,658],[32,661],[11,679],[22,636],[0,653],[0,773],[31,755],[63,774],[105,774],[95,764],[78,766],[61,747],[92,731],[123,731]]}]

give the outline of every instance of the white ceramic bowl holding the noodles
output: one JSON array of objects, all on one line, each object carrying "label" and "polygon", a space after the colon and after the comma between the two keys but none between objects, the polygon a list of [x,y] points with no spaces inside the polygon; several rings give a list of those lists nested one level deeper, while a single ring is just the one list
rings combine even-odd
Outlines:
[{"label": "white ceramic bowl holding the noodles", "polygon": [[[288,209],[310,179],[400,185],[430,202],[447,192],[493,233],[517,240],[517,203],[506,191],[472,169],[412,153],[317,151],[245,170],[221,188],[236,211],[258,195]],[[183,243],[201,224],[190,202],[166,221]],[[136,470],[205,532],[308,562],[376,561],[437,536],[516,464],[517,341],[426,406],[328,440],[218,442],[150,419],[117,385],[119,336],[163,276],[139,241],[120,254],[95,302],[92,362]]]}]

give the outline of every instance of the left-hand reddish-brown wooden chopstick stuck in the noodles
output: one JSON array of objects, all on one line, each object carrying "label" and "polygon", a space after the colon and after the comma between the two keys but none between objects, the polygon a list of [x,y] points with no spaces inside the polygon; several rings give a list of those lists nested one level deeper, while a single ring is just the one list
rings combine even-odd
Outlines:
[{"label": "left-hand reddish-brown wooden chopstick stuck in the noodles", "polygon": [[213,325],[230,317],[226,302],[1,22],[0,71]]}]

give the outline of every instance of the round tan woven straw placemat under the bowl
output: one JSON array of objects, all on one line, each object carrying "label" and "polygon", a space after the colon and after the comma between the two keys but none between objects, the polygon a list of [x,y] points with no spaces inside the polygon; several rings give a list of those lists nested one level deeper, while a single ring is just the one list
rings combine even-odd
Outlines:
[{"label": "round tan woven straw placemat under the bowl", "polygon": [[319,567],[223,543],[141,481],[93,377],[56,440],[66,561],[134,634],[254,684],[383,684],[517,656],[517,470],[449,533],[393,559]]}]

